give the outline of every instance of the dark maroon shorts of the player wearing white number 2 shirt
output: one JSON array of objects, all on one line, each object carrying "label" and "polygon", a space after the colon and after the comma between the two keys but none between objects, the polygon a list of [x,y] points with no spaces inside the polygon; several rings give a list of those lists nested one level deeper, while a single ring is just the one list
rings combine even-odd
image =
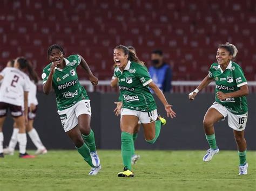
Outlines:
[{"label": "dark maroon shorts of the player wearing white number 2 shirt", "polygon": [[0,102],[0,117],[7,115],[8,108],[11,111],[12,117],[19,117],[23,115],[22,107],[18,105],[12,105],[10,103]]}]

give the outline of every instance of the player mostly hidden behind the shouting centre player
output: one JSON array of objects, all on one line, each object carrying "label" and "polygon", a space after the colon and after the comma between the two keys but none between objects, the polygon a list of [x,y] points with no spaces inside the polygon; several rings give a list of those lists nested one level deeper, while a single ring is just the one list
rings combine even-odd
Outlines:
[{"label": "player mostly hidden behind the shouting centre player", "polygon": [[[132,51],[134,54],[136,54],[136,49],[133,46],[128,46],[127,47],[129,49],[129,51]],[[114,65],[116,67],[116,65]],[[111,82],[110,82],[110,86],[112,88],[117,87],[117,77],[116,75],[112,76]],[[120,95],[122,96],[122,95]],[[117,108],[114,110],[114,112],[116,112],[116,115],[118,116],[120,114],[120,110],[122,108],[122,100],[120,98],[120,96],[118,97],[118,102],[114,102],[115,104],[117,104]],[[132,149],[132,158],[131,158],[131,163],[132,165],[136,164],[136,162],[140,159],[140,155],[139,154],[135,154],[135,146],[134,143],[138,137],[138,133],[139,133],[139,128],[140,128],[140,122],[138,122],[138,124],[136,125],[136,127],[134,128],[133,134],[132,134],[132,140],[133,140],[133,149]]]}]

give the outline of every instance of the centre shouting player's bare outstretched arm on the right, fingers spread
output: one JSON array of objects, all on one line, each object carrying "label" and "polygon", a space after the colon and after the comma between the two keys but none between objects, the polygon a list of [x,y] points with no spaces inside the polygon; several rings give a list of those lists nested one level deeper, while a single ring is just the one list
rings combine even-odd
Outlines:
[{"label": "centre shouting player's bare outstretched arm on the right, fingers spread", "polygon": [[165,111],[167,113],[167,117],[169,117],[169,116],[171,118],[176,117],[176,113],[171,108],[172,105],[170,105],[167,102],[163,92],[158,88],[158,86],[152,81],[152,82],[149,83],[149,87],[154,91],[154,93],[157,95],[159,100],[163,103]]}]

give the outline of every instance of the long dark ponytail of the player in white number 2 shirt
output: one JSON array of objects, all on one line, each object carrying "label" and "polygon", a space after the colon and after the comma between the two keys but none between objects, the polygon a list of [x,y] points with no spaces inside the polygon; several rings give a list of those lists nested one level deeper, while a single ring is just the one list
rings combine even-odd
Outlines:
[{"label": "long dark ponytail of the player in white number 2 shirt", "polygon": [[19,57],[17,59],[17,62],[19,63],[19,69],[26,69],[29,73],[30,80],[33,80],[35,83],[38,82],[38,75],[35,71],[35,69],[32,67],[32,64],[29,60],[25,59],[24,57]]}]

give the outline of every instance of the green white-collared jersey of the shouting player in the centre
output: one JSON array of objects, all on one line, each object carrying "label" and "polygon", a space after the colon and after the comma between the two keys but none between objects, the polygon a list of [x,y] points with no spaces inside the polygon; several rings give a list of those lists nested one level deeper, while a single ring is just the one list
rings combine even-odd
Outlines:
[{"label": "green white-collared jersey of the shouting player in the centre", "polygon": [[123,108],[146,112],[157,108],[147,86],[152,79],[144,66],[128,61],[123,72],[118,67],[114,68],[114,75],[118,79]]}]

